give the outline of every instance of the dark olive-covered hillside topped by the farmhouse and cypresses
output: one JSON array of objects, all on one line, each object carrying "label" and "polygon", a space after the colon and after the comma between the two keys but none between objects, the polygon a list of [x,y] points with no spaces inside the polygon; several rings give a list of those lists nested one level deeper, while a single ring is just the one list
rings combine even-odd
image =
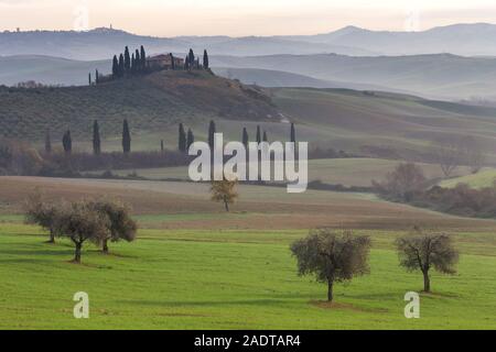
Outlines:
[{"label": "dark olive-covered hillside topped by the farmhouse and cypresses", "polygon": [[128,119],[138,133],[171,130],[180,121],[207,124],[209,119],[262,121],[277,109],[261,90],[204,70],[159,72],[97,86],[65,88],[0,87],[0,136],[42,140],[71,129],[90,135],[100,121],[104,134],[118,135]]}]

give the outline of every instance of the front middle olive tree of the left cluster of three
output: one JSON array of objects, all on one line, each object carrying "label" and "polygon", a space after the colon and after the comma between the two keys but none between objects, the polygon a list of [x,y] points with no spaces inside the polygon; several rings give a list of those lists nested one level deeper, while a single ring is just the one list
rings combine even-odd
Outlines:
[{"label": "front middle olive tree of the left cluster of three", "polygon": [[108,237],[110,220],[88,201],[73,202],[55,220],[56,233],[67,237],[75,245],[74,263],[80,263],[83,244],[90,241],[99,245]]}]

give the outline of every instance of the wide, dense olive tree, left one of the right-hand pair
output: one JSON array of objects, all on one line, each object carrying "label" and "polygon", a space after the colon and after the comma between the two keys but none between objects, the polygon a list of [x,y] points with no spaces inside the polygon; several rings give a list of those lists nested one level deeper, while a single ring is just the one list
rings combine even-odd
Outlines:
[{"label": "wide, dense olive tree, left one of the right-hand pair", "polygon": [[294,242],[291,251],[298,260],[299,275],[313,274],[317,282],[327,283],[328,301],[334,298],[334,283],[369,273],[370,238],[354,235],[352,231],[312,230],[306,238]]}]

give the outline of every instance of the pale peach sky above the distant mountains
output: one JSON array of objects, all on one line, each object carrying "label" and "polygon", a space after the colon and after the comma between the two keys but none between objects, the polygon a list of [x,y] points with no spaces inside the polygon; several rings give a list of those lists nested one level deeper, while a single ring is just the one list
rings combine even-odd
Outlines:
[{"label": "pale peach sky above the distant mountains", "polygon": [[111,23],[157,36],[242,36],[474,22],[496,23],[494,0],[0,0],[0,30],[84,30]]}]

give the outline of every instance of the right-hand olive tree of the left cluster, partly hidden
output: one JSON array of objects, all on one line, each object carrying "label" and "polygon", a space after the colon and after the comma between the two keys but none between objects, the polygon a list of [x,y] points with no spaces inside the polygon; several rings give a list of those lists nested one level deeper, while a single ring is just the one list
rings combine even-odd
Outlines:
[{"label": "right-hand olive tree of the left cluster, partly hidden", "polygon": [[101,251],[108,253],[108,241],[118,242],[125,240],[132,242],[136,239],[138,224],[131,219],[130,208],[118,201],[110,199],[98,199],[90,202],[90,207],[97,212],[108,217],[108,231],[101,239]]}]

